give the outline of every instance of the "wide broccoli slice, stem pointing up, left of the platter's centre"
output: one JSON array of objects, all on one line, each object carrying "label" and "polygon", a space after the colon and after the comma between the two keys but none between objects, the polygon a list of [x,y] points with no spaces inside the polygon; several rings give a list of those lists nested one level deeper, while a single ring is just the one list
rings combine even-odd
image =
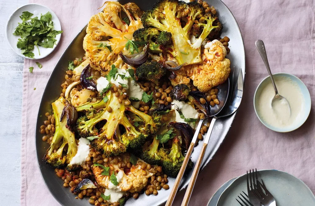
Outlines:
[{"label": "wide broccoli slice, stem pointing up, left of the platter's centre", "polygon": [[[138,149],[146,141],[149,134],[154,134],[160,127],[159,116],[151,117],[136,110],[131,105],[118,102],[115,92],[107,92],[106,108],[101,109],[92,118],[80,117],[77,120],[77,131],[81,137],[90,137],[91,145],[96,150],[112,156],[126,152],[127,149]],[[141,124],[135,127],[133,120],[125,113],[131,112],[141,119]],[[100,129],[98,123],[104,123]]]}]

